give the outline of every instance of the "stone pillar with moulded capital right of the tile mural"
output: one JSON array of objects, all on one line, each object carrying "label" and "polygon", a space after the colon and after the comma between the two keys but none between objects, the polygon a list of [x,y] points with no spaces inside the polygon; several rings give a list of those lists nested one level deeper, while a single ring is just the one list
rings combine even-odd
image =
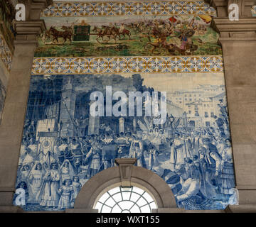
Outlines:
[{"label": "stone pillar with moulded capital right of the tile mural", "polygon": [[218,18],[213,26],[220,33],[223,48],[230,131],[233,143],[236,187],[239,206],[228,211],[256,212],[256,18],[248,10],[253,1],[238,2],[239,21],[228,18],[228,4],[235,1],[212,1]]}]

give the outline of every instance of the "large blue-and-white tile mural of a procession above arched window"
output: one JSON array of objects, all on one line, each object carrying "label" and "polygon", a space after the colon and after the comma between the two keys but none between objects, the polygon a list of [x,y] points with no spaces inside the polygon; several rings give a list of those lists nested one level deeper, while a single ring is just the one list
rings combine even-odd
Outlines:
[{"label": "large blue-and-white tile mural of a procession above arched window", "polygon": [[[106,92],[107,86],[112,92]],[[145,99],[141,116],[106,116],[106,111],[92,116],[95,91],[103,94],[103,106],[107,95],[118,91],[125,101],[129,92],[166,92],[166,121],[158,124],[146,116]],[[111,100],[113,112],[129,112],[118,98]],[[180,208],[235,204],[223,73],[31,77],[16,179],[16,188],[26,189],[23,209],[72,209],[82,185],[113,167],[117,157],[136,157],[138,166],[162,177]]]}]

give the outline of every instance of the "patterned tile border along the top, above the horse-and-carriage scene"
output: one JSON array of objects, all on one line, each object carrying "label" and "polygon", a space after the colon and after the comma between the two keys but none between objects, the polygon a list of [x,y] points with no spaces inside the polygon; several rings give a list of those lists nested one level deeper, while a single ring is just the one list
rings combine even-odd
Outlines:
[{"label": "patterned tile border along the top, above the horse-and-carriage scene", "polygon": [[216,11],[204,1],[97,1],[58,2],[43,11],[42,16],[129,16],[129,15],[194,15],[215,16]]}]

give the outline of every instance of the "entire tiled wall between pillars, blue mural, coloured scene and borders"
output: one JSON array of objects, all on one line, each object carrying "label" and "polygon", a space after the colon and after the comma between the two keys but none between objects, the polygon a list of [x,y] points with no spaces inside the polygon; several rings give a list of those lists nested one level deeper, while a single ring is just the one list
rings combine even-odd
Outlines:
[{"label": "entire tiled wall between pillars, blue mural, coloured scene and borders", "polygon": [[[162,177],[180,208],[237,203],[213,16],[203,1],[65,2],[43,12],[16,180],[23,209],[73,208],[87,180],[117,157],[136,157]],[[93,116],[93,92],[122,114]],[[137,101],[141,115],[128,114],[131,92],[149,95]],[[160,123],[146,114],[155,101],[152,113],[166,106]]]}]

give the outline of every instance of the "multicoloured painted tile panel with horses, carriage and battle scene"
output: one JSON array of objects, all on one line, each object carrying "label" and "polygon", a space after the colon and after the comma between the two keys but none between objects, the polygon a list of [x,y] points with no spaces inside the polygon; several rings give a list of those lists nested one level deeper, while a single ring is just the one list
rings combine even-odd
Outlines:
[{"label": "multicoloured painted tile panel with horses, carriage and battle scene", "polygon": [[36,57],[221,55],[210,15],[45,17]]}]

